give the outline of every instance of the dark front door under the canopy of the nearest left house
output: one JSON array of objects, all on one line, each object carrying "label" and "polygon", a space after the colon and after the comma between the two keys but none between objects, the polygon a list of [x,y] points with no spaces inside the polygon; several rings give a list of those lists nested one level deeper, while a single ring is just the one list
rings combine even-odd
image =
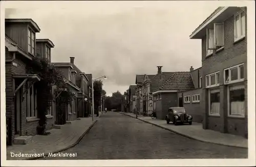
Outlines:
[{"label": "dark front door under the canopy of the nearest left house", "polygon": [[14,119],[15,119],[15,125],[14,125],[14,132],[15,134],[19,134],[20,130],[20,109],[21,109],[21,99],[20,98],[20,89],[16,92],[15,100],[14,100]]}]

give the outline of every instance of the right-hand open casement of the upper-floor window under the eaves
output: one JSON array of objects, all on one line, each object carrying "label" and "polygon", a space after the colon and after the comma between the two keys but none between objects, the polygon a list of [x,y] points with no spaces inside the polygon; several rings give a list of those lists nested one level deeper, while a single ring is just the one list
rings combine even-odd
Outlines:
[{"label": "right-hand open casement of the upper-floor window under the eaves", "polygon": [[214,23],[214,44],[224,46],[224,25],[222,23]]}]

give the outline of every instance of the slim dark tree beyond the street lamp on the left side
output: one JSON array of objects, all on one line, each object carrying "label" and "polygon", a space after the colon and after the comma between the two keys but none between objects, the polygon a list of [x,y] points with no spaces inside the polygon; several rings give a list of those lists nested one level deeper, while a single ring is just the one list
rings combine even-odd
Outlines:
[{"label": "slim dark tree beyond the street lamp on the left side", "polygon": [[99,106],[102,94],[102,80],[95,80],[93,82],[93,89],[94,89],[94,108],[96,108],[97,117],[99,116]]}]

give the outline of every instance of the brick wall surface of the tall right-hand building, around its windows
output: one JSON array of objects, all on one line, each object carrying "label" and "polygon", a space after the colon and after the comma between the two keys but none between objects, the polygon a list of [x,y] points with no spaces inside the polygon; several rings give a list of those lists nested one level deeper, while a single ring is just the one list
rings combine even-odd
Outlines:
[{"label": "brick wall surface of the tall right-hand building, around its windows", "polygon": [[[246,16],[246,15],[245,15]],[[247,35],[234,43],[233,23],[231,16],[224,22],[224,49],[205,57],[206,36],[202,39],[202,109],[205,111],[203,127],[221,132],[229,132],[244,136],[247,133]],[[245,78],[245,118],[227,118],[227,86],[224,84],[224,69],[244,63]],[[220,117],[208,116],[208,89],[205,89],[205,75],[220,71]]]}]

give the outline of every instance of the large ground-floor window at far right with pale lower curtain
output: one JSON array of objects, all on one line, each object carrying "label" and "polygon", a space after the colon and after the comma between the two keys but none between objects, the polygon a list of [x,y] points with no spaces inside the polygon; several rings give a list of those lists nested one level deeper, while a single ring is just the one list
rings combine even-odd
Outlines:
[{"label": "large ground-floor window at far right with pale lower curtain", "polygon": [[228,116],[244,117],[244,85],[228,87]]}]

